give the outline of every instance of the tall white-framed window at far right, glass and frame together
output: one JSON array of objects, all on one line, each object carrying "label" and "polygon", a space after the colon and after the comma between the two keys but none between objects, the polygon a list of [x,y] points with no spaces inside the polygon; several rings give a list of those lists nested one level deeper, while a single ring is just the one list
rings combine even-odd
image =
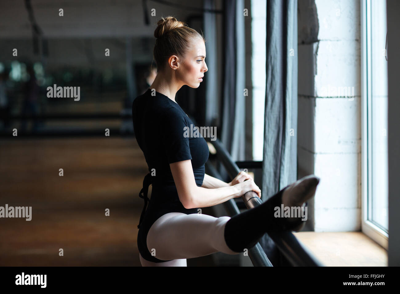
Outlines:
[{"label": "tall white-framed window at far right, glass and frame together", "polygon": [[361,1],[362,231],[388,248],[386,1]]}]

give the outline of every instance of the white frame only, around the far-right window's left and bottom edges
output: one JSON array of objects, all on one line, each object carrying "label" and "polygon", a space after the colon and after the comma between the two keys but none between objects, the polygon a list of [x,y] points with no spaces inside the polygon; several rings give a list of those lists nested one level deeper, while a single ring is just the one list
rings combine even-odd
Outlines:
[{"label": "white frame only, around the far-right window's left and bottom edges", "polygon": [[362,232],[388,250],[388,234],[368,220],[368,195],[372,191],[371,166],[368,164],[372,158],[371,148],[371,128],[368,128],[369,118],[371,117],[372,85],[371,81],[371,0],[360,0],[360,34],[361,34],[361,175],[362,175],[362,199],[361,199],[361,230]]}]

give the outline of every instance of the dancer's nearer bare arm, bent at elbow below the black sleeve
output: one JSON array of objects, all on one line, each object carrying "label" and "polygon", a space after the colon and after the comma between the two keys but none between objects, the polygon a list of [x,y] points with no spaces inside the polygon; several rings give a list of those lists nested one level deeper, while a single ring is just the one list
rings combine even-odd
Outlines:
[{"label": "dancer's nearer bare arm, bent at elbow below the black sleeve", "polygon": [[234,186],[214,189],[198,187],[190,160],[171,163],[170,168],[179,200],[186,209],[214,206],[232,198],[240,197],[251,190],[260,192],[260,189],[252,180],[246,180]]}]

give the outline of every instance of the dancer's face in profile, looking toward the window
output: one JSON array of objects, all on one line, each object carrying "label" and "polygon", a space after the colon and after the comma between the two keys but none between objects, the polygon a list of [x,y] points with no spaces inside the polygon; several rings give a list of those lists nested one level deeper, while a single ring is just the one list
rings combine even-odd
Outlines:
[{"label": "dancer's face in profile, looking toward the window", "polygon": [[185,85],[191,88],[198,88],[208,70],[206,65],[206,46],[202,39],[192,42],[186,56],[179,62],[176,76]]}]

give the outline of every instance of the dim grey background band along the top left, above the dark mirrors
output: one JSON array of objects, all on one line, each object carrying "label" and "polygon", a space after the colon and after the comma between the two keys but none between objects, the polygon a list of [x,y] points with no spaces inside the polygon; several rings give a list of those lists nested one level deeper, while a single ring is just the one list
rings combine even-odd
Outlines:
[{"label": "dim grey background band along the top left, above the dark mirrors", "polygon": [[[30,21],[24,0],[0,2],[0,39],[32,38],[36,23],[45,38],[152,37],[161,16],[172,15],[185,21],[199,9],[188,10],[181,5],[202,7],[202,1],[168,0],[178,7],[147,0],[150,25],[144,23],[142,0],[32,0],[33,21]],[[180,7],[179,7],[180,6]],[[59,16],[62,8],[64,16]],[[151,10],[155,9],[155,16]]]}]

